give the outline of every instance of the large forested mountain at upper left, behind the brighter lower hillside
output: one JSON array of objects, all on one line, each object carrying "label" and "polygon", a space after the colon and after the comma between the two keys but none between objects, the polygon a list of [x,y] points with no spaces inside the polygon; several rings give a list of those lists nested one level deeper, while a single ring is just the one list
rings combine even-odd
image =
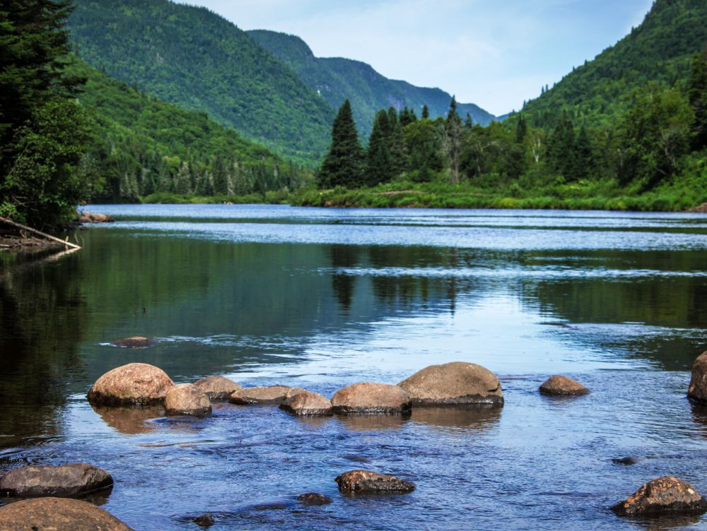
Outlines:
[{"label": "large forested mountain at upper left, behind the brighter lower hillside", "polygon": [[319,162],[333,109],[245,32],[168,0],[76,0],[78,55],[165,102],[206,112],[295,160]]}]

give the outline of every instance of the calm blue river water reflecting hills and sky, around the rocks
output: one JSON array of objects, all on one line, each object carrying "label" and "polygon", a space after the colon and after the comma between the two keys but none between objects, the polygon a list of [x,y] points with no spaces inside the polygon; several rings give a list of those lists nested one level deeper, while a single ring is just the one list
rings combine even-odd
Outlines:
[{"label": "calm blue river water reflecting hills and sky, around the rocks", "polygon": [[[607,510],[661,475],[707,494],[707,411],[685,397],[707,350],[706,216],[87,209],[118,221],[76,232],[81,251],[0,255],[0,470],[103,467],[115,487],[93,501],[139,531],[196,530],[203,513],[214,530],[707,529]],[[131,335],[159,343],[110,345]],[[451,361],[498,374],[506,405],[305,420],[223,404],[170,419],[85,398],[129,362],[177,383],[332,395]],[[539,395],[551,374],[592,394]],[[341,496],[334,477],[355,468],[417,489]],[[300,506],[308,491],[334,501]]]}]

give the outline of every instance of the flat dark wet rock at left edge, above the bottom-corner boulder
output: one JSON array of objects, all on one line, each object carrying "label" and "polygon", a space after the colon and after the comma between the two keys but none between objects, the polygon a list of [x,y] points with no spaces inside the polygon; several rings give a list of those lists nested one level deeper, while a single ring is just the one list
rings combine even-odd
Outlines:
[{"label": "flat dark wet rock at left edge, above the bottom-corner boulder", "polygon": [[70,498],[107,489],[112,484],[108,472],[86,463],[32,465],[15,468],[0,477],[0,496]]}]

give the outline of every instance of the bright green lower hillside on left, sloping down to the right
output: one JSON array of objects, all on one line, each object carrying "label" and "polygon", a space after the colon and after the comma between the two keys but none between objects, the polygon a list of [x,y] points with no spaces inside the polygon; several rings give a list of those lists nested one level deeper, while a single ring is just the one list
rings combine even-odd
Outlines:
[{"label": "bright green lower hillside on left, sloping down to the right", "polygon": [[161,102],[82,61],[70,73],[87,80],[79,102],[93,118],[84,159],[93,201],[263,193],[294,189],[308,177],[203,112]]}]

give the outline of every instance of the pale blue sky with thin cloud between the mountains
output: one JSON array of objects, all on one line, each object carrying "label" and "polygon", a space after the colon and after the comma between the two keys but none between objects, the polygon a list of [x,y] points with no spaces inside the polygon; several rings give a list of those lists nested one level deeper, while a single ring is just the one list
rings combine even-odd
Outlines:
[{"label": "pale blue sky with thin cloud between the mountains", "polygon": [[653,0],[188,0],[498,115],[639,25]]}]

